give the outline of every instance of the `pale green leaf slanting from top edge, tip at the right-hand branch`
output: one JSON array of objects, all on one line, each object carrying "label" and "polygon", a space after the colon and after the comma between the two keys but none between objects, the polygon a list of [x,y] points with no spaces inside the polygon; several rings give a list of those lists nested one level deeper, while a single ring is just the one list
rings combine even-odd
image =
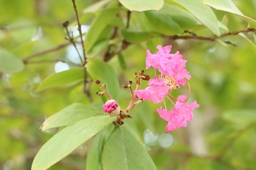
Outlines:
[{"label": "pale green leaf slanting from top edge, tip at the right-hand branch", "polygon": [[220,35],[218,21],[216,15],[209,6],[203,5],[201,0],[174,0],[178,4],[184,6],[188,11],[191,12],[199,21],[206,25],[214,34]]}]

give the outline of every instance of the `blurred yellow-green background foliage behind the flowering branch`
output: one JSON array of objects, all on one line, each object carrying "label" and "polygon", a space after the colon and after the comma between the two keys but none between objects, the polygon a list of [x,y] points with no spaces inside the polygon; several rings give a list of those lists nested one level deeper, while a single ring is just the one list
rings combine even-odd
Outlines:
[{"label": "blurred yellow-green background foliage behind the flowering branch", "polygon": [[[76,1],[81,24],[87,25],[83,26],[85,30],[97,11],[82,11],[95,2],[98,1]],[[233,2],[244,15],[256,19],[255,0]],[[111,3],[117,4],[117,1]],[[244,18],[235,14],[214,12],[228,28],[220,30],[222,33],[256,25],[248,25]],[[132,12],[130,19],[131,29],[136,30],[138,23],[142,24],[141,30],[145,29],[142,13]],[[57,132],[41,132],[39,127],[46,117],[75,102],[89,104],[87,96],[82,93],[81,83],[36,92],[41,81],[50,74],[80,67],[77,56],[75,58],[76,52],[65,40],[62,23],[67,20],[71,23],[69,30],[73,29],[76,36],[76,28],[72,28],[76,19],[71,0],[0,0],[0,48],[23,59],[56,48],[27,60],[23,71],[0,73],[0,169],[30,169],[40,147]],[[89,57],[103,58],[108,43],[118,45],[115,44],[118,37],[108,42],[113,34],[113,25],[104,30],[105,37],[102,36],[103,41],[99,41],[97,46],[100,50],[92,51]],[[196,25],[190,31],[212,36],[212,32],[203,25]],[[148,101],[130,112],[133,119],[124,120],[124,126],[132,127],[139,134],[158,169],[256,169],[256,45],[254,34],[244,35],[246,38],[242,35],[222,38],[236,47],[217,41],[174,41],[168,36],[155,36],[129,44],[119,56],[108,61],[120,83],[118,102],[125,108],[130,94],[121,87],[133,80],[135,70],[145,69],[146,50],[154,53],[156,45],[170,44],[171,53],[180,51],[187,60],[187,70],[191,74],[188,103],[197,100],[200,104],[187,128],[165,134],[167,122],[156,112],[163,103]],[[153,75],[153,70],[146,70],[146,73]],[[95,95],[98,90],[96,84],[91,84],[94,103],[101,105],[102,100]],[[173,95],[187,94],[187,91],[187,87],[181,87]],[[171,103],[167,104],[171,107]],[[85,143],[50,169],[85,169],[89,145],[89,142]]]}]

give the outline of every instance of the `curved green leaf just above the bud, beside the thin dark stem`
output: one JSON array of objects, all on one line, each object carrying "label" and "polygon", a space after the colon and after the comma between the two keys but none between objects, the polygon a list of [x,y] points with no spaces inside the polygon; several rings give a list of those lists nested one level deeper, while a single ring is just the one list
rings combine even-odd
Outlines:
[{"label": "curved green leaf just above the bud, beside the thin dark stem", "polygon": [[107,91],[112,99],[118,100],[119,97],[119,81],[113,68],[104,61],[97,58],[88,59],[86,64],[87,71],[94,80],[101,80],[106,84]]}]

